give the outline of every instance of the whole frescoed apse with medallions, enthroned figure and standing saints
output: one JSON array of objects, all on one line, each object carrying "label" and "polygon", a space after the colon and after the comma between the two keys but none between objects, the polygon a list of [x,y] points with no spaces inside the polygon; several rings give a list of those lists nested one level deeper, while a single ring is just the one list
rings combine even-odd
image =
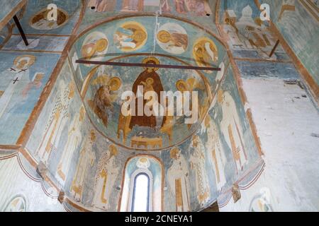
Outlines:
[{"label": "whole frescoed apse with medallions, enthroned figure and standing saints", "polygon": [[[47,177],[65,192],[67,210],[79,210],[74,203],[86,210],[129,210],[132,175],[138,172],[152,175],[152,210],[201,210],[227,194],[259,160],[223,46],[193,25],[161,20],[156,37],[145,18],[114,20],[79,37],[69,52],[27,144],[47,167]],[[150,40],[157,54],[148,53]],[[220,71],[75,62],[125,52],[113,61],[214,64]],[[178,57],[182,52],[185,61]],[[155,93],[197,91],[197,123],[185,124],[185,117],[169,114],[125,117],[121,94],[136,93],[138,85]],[[255,173],[246,176],[247,182]]]}]

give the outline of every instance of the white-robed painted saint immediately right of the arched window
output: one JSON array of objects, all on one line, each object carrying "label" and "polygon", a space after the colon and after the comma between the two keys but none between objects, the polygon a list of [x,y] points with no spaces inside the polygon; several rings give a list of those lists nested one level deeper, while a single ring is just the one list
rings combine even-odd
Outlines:
[{"label": "white-robed painted saint immediately right of the arched window", "polygon": [[173,164],[167,170],[167,180],[169,188],[175,197],[175,211],[189,212],[189,170],[184,156],[181,155],[180,150],[175,148],[176,153],[172,157]]}]

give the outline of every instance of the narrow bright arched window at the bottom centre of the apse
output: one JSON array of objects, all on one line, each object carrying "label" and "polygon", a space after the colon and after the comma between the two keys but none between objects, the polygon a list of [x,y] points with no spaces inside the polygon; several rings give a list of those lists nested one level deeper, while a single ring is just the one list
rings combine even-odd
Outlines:
[{"label": "narrow bright arched window at the bottom centre of the apse", "polygon": [[150,177],[145,173],[136,175],[133,188],[132,211],[150,211]]}]

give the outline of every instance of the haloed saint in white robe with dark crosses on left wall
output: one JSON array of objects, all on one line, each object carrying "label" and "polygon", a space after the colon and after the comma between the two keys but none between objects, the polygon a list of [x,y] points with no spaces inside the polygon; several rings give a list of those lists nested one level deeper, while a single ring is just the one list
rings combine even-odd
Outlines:
[{"label": "haloed saint in white robe with dark crosses on left wall", "polygon": [[0,92],[0,119],[4,115],[4,112],[8,110],[13,95],[23,93],[23,90],[30,84],[29,67],[34,63],[34,56],[23,55],[16,57],[13,61],[13,66],[0,74],[0,90],[3,89]]}]

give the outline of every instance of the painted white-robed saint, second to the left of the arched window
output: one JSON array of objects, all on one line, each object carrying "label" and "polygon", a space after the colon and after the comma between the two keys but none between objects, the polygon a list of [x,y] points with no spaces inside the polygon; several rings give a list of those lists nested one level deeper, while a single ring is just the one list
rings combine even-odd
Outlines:
[{"label": "painted white-robed saint, second to the left of the arched window", "polygon": [[74,196],[76,201],[81,201],[86,172],[89,169],[89,166],[93,167],[96,160],[96,155],[92,151],[94,140],[95,138],[92,138],[92,135],[86,138],[84,148],[82,148],[80,153],[79,162],[77,164],[77,172],[75,173],[71,188],[71,194]]}]

